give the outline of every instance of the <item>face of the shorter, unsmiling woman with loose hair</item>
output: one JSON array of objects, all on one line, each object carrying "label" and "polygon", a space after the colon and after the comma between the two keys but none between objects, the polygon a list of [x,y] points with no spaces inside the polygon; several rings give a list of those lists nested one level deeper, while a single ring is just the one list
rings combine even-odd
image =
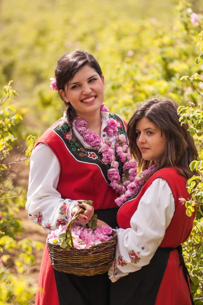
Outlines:
[{"label": "face of the shorter, unsmiling woman with loose hair", "polygon": [[146,161],[159,162],[163,157],[167,140],[164,132],[146,117],[136,124],[136,143]]}]

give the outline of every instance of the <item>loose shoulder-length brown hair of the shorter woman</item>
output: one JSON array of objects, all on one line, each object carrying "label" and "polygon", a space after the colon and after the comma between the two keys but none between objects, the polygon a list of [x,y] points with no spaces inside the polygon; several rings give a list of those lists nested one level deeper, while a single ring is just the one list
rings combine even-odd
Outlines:
[{"label": "loose shoulder-length brown hair of the shorter woman", "polygon": [[197,174],[195,171],[191,172],[189,164],[198,159],[198,154],[194,140],[187,130],[189,128],[188,124],[181,126],[179,122],[180,116],[177,113],[177,108],[178,104],[167,98],[152,98],[143,102],[128,123],[129,148],[131,154],[138,161],[139,168],[142,170],[147,169],[151,161],[146,161],[142,158],[141,151],[136,143],[136,124],[141,118],[146,117],[164,132],[167,139],[165,154],[161,161],[158,162],[156,170],[177,166],[179,173],[189,179],[193,174]]}]

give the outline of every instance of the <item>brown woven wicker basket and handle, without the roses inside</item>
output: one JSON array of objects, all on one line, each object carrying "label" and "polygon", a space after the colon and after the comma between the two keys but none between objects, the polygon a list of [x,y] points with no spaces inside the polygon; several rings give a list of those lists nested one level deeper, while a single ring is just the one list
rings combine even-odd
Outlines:
[{"label": "brown woven wicker basket and handle, without the roses inside", "polygon": [[[69,233],[72,247],[74,247],[71,234],[72,224],[84,210],[84,208],[78,210],[66,228],[65,234],[67,236]],[[49,243],[47,238],[52,266],[58,271],[73,273],[76,276],[95,276],[107,272],[115,256],[116,242],[116,231],[113,231],[111,239],[85,249],[62,249],[59,245]]]}]

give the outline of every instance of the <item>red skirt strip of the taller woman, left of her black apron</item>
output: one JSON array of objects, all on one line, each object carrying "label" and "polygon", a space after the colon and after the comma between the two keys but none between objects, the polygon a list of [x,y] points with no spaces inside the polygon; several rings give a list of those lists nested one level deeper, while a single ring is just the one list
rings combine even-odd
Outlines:
[{"label": "red skirt strip of the taller woman, left of her black apron", "polygon": [[50,263],[47,245],[42,258],[35,305],[59,305],[54,269]]}]

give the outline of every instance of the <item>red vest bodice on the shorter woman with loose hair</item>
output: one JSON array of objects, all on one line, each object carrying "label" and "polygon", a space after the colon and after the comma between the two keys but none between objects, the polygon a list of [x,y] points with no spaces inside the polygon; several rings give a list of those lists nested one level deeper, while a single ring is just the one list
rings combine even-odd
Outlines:
[{"label": "red vest bodice on the shorter woman with loose hair", "polygon": [[137,210],[140,199],[152,184],[157,179],[162,178],[166,180],[170,186],[175,200],[175,213],[170,225],[165,231],[165,236],[159,247],[173,247],[176,248],[180,243],[188,239],[192,230],[192,224],[195,213],[191,217],[186,215],[186,207],[179,201],[183,197],[189,199],[190,195],[187,192],[186,182],[187,179],[180,175],[175,168],[163,168],[153,174],[143,186],[138,196],[134,199],[127,201],[118,211],[117,222],[120,228],[130,228],[130,219],[134,212]]}]

